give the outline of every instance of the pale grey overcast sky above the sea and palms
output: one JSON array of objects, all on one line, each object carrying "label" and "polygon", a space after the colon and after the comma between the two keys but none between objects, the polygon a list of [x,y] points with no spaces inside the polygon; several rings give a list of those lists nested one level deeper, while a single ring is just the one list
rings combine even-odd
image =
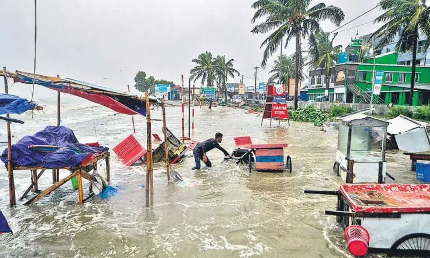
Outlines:
[{"label": "pale grey overcast sky above the sea and palms", "polygon": [[[376,0],[313,0],[341,7],[345,22],[371,9]],[[234,58],[234,67],[254,85],[253,67],[260,66],[260,45],[267,35],[250,33],[252,0],[38,0],[36,73],[95,83],[117,89],[134,85],[138,71],[186,85],[191,59],[206,50]],[[8,70],[33,71],[34,1],[0,0],[0,65]],[[345,26],[372,21],[379,9]],[[335,26],[323,22],[325,31]],[[368,34],[378,25],[358,28]],[[338,34],[344,47],[356,29]],[[295,42],[284,50],[294,52]],[[278,54],[279,55],[279,54]],[[272,58],[273,59],[273,58]],[[272,64],[273,61],[269,61]],[[258,73],[258,82],[268,79]],[[107,77],[107,79],[102,79]],[[239,78],[229,79],[237,83]],[[200,84],[200,82],[196,82]],[[35,95],[46,94],[36,86]],[[27,96],[28,86],[19,86]],[[13,93],[18,93],[14,91]],[[54,96],[52,95],[52,98]]]}]

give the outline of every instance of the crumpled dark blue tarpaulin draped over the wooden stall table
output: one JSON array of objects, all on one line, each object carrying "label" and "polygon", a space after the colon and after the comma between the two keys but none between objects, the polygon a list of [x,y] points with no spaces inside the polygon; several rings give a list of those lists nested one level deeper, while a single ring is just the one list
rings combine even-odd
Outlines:
[{"label": "crumpled dark blue tarpaulin draped over the wooden stall table", "polygon": [[[30,145],[54,145],[68,149],[52,151],[39,151],[28,148]],[[74,167],[90,154],[107,151],[106,147],[92,147],[78,143],[73,131],[64,126],[46,126],[33,136],[24,136],[15,145],[12,145],[12,167],[43,167],[56,169],[61,167]],[[7,148],[3,151],[1,160],[7,166]]]}]

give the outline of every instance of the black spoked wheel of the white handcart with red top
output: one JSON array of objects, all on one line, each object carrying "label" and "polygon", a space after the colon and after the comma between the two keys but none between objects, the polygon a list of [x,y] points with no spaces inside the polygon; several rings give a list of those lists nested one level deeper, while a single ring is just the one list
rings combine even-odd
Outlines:
[{"label": "black spoked wheel of the white handcart with red top", "polygon": [[401,257],[430,257],[430,235],[424,233],[410,234],[397,240],[391,247],[391,254]]}]

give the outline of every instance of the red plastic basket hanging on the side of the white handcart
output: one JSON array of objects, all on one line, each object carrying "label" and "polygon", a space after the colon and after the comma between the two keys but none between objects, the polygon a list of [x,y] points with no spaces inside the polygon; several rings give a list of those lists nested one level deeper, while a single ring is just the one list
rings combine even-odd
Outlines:
[{"label": "red plastic basket hanging on the side of the white handcart", "polygon": [[351,254],[355,256],[367,254],[370,236],[364,227],[358,225],[347,227],[344,232],[344,239]]}]

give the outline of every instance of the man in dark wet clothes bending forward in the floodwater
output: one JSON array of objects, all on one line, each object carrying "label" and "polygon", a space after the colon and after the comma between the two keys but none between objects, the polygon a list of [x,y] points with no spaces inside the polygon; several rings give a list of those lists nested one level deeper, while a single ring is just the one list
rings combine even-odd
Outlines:
[{"label": "man in dark wet clothes bending forward in the floodwater", "polygon": [[212,166],[212,163],[206,156],[206,152],[212,150],[213,148],[217,148],[218,150],[222,151],[225,156],[228,156],[231,158],[231,155],[228,154],[228,152],[219,145],[221,141],[222,141],[222,133],[217,132],[215,134],[215,138],[211,138],[197,144],[193,151],[194,160],[196,161],[196,166],[192,169],[200,169],[200,160],[203,160],[203,163],[205,163],[206,166],[209,166],[209,167]]}]

